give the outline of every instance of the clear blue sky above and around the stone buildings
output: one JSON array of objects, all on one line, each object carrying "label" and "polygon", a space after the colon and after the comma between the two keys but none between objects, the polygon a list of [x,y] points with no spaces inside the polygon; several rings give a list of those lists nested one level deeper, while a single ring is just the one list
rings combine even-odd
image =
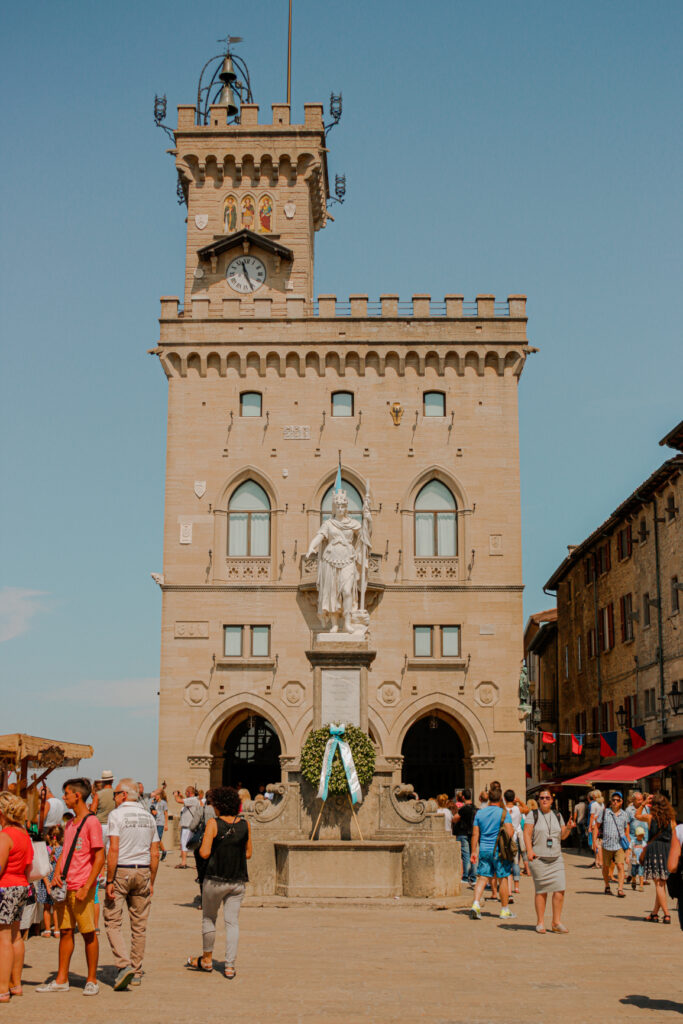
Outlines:
[{"label": "clear blue sky above and around the stone buildings", "polygon": [[[293,120],[342,90],[316,289],[528,295],[526,613],[681,411],[680,0],[295,0]],[[155,91],[242,35],[285,98],[287,0],[11,4],[2,34],[1,732],[156,776],[166,383],[184,208]],[[419,252],[421,272],[407,253]]]}]

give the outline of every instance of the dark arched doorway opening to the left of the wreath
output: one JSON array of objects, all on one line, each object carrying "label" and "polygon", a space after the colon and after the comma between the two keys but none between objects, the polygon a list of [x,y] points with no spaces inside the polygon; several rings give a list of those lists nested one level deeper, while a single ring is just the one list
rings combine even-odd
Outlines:
[{"label": "dark arched doorway opening to the left of the wreath", "polygon": [[243,785],[252,797],[260,785],[280,781],[280,739],[260,715],[249,715],[225,740],[223,785]]}]

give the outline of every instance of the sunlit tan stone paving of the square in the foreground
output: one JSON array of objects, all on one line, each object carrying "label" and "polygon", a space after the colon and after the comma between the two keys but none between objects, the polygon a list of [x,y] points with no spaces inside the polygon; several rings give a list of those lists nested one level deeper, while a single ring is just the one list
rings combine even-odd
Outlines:
[{"label": "sunlit tan stone paving of the square in the foreground", "polygon": [[[223,929],[212,975],[183,970],[201,950],[194,871],[162,865],[147,932],[145,976],[139,988],[114,992],[112,955],[100,938],[100,994],[84,998],[83,945],[73,961],[72,988],[40,995],[53,976],[56,941],[31,939],[25,995],[0,1006],[7,1021],[63,1024],[354,1024],[430,1021],[434,1024],[639,1021],[683,1015],[683,933],[646,924],[652,887],[628,889],[625,900],[602,894],[587,857],[568,854],[565,923],[569,935],[537,935],[532,885],[522,879],[514,910],[498,920],[488,901],[480,922],[453,905],[395,900],[380,906],[243,907],[239,973],[226,981]],[[436,904],[438,905],[438,904]]]}]

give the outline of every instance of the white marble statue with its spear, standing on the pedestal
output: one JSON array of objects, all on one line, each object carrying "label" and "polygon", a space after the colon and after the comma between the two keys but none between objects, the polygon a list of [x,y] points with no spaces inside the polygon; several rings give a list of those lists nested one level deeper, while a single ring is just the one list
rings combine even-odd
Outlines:
[{"label": "white marble statue with its spear, standing on the pedestal", "polygon": [[370,485],[362,507],[362,523],[348,515],[346,492],[336,490],[332,518],[326,519],[306,552],[306,558],[310,558],[319,549],[317,613],[330,633],[366,635],[371,521]]}]

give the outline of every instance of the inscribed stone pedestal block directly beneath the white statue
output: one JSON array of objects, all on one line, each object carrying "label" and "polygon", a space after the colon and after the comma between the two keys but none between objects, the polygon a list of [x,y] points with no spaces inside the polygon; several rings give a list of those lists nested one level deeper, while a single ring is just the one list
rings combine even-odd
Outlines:
[{"label": "inscribed stone pedestal block directly beneath the white statue", "polygon": [[315,637],[306,651],[313,670],[313,729],[343,722],[368,732],[368,670],[376,656],[367,640],[351,634]]}]

